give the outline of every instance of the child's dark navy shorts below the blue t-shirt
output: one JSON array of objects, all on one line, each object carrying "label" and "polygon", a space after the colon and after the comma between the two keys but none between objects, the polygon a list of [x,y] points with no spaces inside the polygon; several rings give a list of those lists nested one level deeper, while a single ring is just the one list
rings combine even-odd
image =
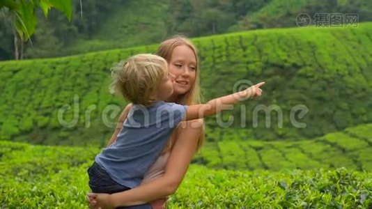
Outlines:
[{"label": "child's dark navy shorts below the blue t-shirt", "polygon": [[[88,168],[89,176],[89,187],[91,187],[94,193],[108,193],[113,194],[116,192],[124,192],[130,187],[125,187],[119,183],[116,183],[107,171],[102,169],[96,162]],[[151,209],[150,204],[144,204],[139,206],[127,206],[120,208],[130,208],[130,209]]]}]

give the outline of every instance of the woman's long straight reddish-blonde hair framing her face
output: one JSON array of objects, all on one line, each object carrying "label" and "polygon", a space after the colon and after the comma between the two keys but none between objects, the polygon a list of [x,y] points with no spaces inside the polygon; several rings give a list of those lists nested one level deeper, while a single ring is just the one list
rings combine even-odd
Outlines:
[{"label": "woman's long straight reddish-blonde hair framing her face", "polygon": [[[176,47],[179,46],[187,46],[189,49],[194,52],[195,60],[196,60],[196,77],[195,82],[192,84],[192,87],[190,90],[185,93],[185,95],[182,95],[178,101],[176,101],[178,104],[184,104],[184,105],[191,105],[191,104],[200,104],[201,103],[201,93],[200,93],[200,76],[199,76],[199,58],[198,58],[198,52],[196,51],[196,47],[192,44],[192,42],[186,38],[185,36],[174,36],[173,38],[170,38],[168,40],[165,40],[160,44],[160,46],[157,48],[157,55],[162,56],[168,63],[171,62],[173,50]],[[204,141],[205,135],[205,126],[203,124],[201,136],[198,141],[197,150],[201,148]],[[173,144],[175,143],[174,137],[169,140],[168,145],[166,146],[165,150],[169,150],[172,148]]]}]

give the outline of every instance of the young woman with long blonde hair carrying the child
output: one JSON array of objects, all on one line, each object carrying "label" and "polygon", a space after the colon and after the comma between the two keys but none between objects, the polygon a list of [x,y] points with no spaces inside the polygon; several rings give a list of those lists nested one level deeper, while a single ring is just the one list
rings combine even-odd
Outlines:
[{"label": "young woman with long blonde hair carrying the child", "polygon": [[[157,55],[168,62],[169,72],[176,80],[173,94],[167,102],[199,104],[199,63],[194,45],[180,36],[162,42]],[[258,90],[261,95],[261,89]],[[121,131],[131,106],[121,114],[112,144]],[[184,121],[174,130],[162,155],[150,168],[139,187],[115,194],[88,194],[91,208],[116,208],[150,203],[153,208],[165,208],[166,196],[176,192],[183,180],[192,156],[201,147],[204,138],[203,120]]]}]

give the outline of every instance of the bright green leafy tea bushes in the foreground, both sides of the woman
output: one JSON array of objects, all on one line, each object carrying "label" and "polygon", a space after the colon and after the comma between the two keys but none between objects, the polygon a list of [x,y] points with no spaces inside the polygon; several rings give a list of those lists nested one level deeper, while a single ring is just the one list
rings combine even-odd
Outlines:
[{"label": "bright green leafy tea bushes in the foreground, both sides of the woman", "polygon": [[[0,141],[0,208],[86,208],[96,148]],[[226,171],[192,165],[170,208],[369,208],[371,173]]]}]

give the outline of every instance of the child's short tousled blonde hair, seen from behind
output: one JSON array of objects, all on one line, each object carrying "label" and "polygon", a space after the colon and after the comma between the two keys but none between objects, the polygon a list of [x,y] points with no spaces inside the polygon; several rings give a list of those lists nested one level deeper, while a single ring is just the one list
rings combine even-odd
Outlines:
[{"label": "child's short tousled blonde hair, seen from behind", "polygon": [[168,64],[161,56],[137,54],[111,68],[109,89],[133,104],[148,107],[155,101],[157,87],[166,74]]}]

